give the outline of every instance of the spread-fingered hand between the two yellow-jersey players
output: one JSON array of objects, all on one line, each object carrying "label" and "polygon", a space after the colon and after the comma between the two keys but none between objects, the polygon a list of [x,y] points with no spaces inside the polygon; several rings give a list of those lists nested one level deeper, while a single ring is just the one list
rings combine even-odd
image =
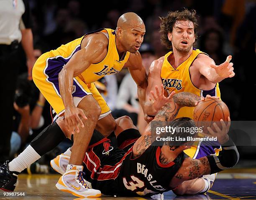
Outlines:
[{"label": "spread-fingered hand between the two yellow-jersey players", "polygon": [[154,93],[154,91],[152,91],[152,90],[150,91],[153,99],[151,97],[149,97],[148,100],[151,102],[153,101],[153,103],[152,103],[153,110],[155,112],[158,112],[164,104],[166,104],[167,102],[169,102],[172,99],[172,97],[175,95],[175,92],[172,91],[168,97],[165,97],[163,84],[161,85],[160,92],[159,92],[159,88],[157,85],[155,86],[155,89],[156,89],[156,93]]}]

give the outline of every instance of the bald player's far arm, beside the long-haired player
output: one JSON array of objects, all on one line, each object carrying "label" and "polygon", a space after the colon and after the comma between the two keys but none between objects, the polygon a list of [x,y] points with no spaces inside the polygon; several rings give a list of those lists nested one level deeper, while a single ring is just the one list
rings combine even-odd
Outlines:
[{"label": "bald player's far arm, beside the long-haired player", "polygon": [[127,63],[125,64],[125,67],[128,67],[128,70],[130,71],[133,80],[137,84],[138,99],[144,112],[148,78],[146,74],[146,69],[142,65],[141,54],[138,51],[136,53],[131,53]]}]

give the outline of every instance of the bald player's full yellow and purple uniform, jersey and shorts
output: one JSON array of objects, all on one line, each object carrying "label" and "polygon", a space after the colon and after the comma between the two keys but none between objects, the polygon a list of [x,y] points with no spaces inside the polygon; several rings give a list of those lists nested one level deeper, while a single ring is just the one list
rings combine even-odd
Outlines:
[{"label": "bald player's full yellow and purple uniform, jersey and shorts", "polygon": [[70,58],[81,49],[81,42],[84,37],[100,32],[108,37],[107,55],[101,62],[91,64],[84,72],[73,78],[72,96],[74,105],[77,106],[83,97],[93,95],[101,107],[100,118],[111,112],[93,82],[105,75],[118,73],[127,62],[130,52],[126,52],[123,59],[120,59],[115,45],[115,31],[105,28],[90,32],[66,45],[61,45],[56,50],[46,52],[36,61],[33,67],[33,81],[58,116],[65,111],[59,91],[59,72]]}]

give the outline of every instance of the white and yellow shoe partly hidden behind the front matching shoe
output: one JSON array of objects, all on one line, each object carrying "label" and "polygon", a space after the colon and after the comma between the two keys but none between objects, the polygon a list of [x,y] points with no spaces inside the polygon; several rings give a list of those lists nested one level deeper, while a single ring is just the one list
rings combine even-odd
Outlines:
[{"label": "white and yellow shoe partly hidden behind the front matching shoe", "polygon": [[51,160],[51,167],[58,173],[64,174],[67,170],[67,165],[69,164],[70,157],[64,154],[57,155],[56,158]]}]

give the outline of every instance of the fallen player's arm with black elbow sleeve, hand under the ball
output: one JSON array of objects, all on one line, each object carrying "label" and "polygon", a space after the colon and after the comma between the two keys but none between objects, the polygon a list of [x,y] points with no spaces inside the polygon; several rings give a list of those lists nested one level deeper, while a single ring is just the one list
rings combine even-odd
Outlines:
[{"label": "fallen player's arm with black elbow sleeve, hand under the ball", "polygon": [[[238,163],[238,150],[232,139],[228,137],[230,120],[228,121],[227,125],[225,122],[221,123],[222,130],[220,130],[220,128],[218,128],[216,132],[211,128],[208,130],[212,136],[217,137],[218,142],[223,145],[223,150],[219,153],[218,156],[208,155],[199,159],[185,159],[176,175],[174,175],[174,178],[172,178],[170,187],[176,187],[183,181],[200,178],[202,175],[218,173],[222,170],[232,168],[234,165],[236,165],[236,163]],[[186,185],[187,183],[184,184]],[[193,190],[190,190],[189,192],[196,191],[196,188],[197,187],[195,187]],[[190,189],[192,189],[191,185]]]}]

